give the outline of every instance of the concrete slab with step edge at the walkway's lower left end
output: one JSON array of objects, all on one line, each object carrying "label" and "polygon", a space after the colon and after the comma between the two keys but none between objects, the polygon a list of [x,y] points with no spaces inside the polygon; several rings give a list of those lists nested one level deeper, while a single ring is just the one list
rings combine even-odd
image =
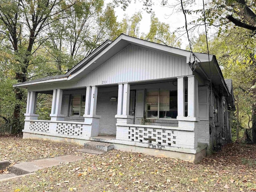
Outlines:
[{"label": "concrete slab with step edge at the walkway's lower left end", "polygon": [[14,164],[12,167],[10,167],[10,172],[16,175],[24,175],[24,174],[35,172],[43,168],[44,167],[34,165],[31,162],[23,162],[23,163]]}]

